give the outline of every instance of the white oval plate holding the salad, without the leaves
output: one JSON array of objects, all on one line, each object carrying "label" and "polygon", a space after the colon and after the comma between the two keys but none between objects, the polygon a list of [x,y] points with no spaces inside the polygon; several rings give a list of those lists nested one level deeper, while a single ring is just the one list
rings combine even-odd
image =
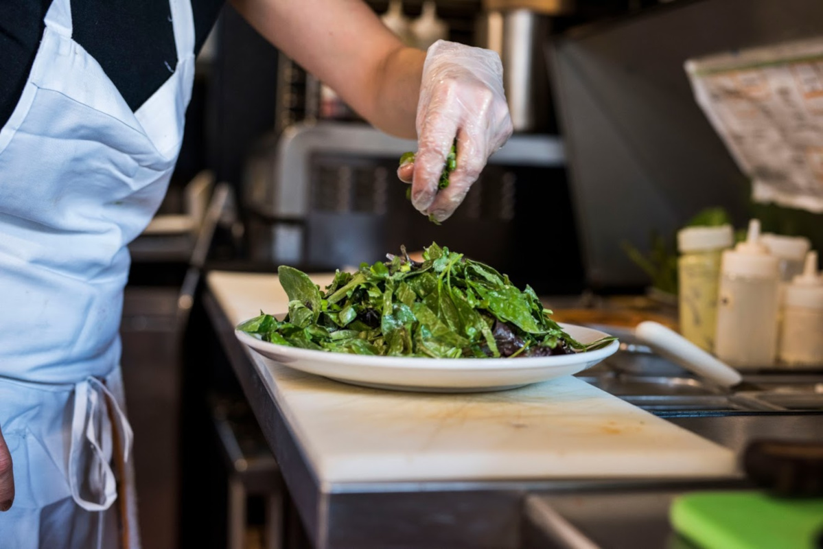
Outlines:
[{"label": "white oval plate holding the salad, without the leaves", "polygon": [[[560,325],[581,343],[608,337],[593,328]],[[597,351],[573,355],[450,359],[313,351],[263,342],[238,330],[235,335],[254,351],[295,370],[366,387],[436,393],[500,391],[577,374],[611,356],[619,347],[614,341]]]}]

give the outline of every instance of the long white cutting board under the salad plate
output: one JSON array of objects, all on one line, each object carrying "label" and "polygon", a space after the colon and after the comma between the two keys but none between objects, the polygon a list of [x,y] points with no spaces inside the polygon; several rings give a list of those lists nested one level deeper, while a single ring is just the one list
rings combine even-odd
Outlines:
[{"label": "long white cutting board under the salad plate", "polygon": [[[314,278],[325,286],[332,275]],[[212,272],[208,285],[235,324],[287,309],[275,275]],[[574,377],[498,393],[400,393],[247,351],[323,483],[737,474],[730,450]]]}]

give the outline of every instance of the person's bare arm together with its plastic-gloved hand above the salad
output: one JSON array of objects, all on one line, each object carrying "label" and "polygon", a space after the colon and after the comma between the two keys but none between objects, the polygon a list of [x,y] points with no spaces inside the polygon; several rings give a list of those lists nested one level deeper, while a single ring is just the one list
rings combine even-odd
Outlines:
[{"label": "person's bare arm together with its plastic-gloved hand above the salad", "polygon": [[[361,0],[232,3],[363,118],[385,132],[416,138],[415,160],[401,165],[398,177],[412,183],[412,204],[434,221],[452,215],[486,159],[512,133],[503,66],[488,49],[444,40],[425,53],[406,48]],[[456,167],[441,186],[455,146]]]}]

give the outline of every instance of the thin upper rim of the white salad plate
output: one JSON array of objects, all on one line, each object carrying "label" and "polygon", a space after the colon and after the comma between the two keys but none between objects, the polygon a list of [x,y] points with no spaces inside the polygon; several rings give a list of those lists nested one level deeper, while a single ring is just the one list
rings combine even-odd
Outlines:
[{"label": "thin upper rim of the white salad plate", "polygon": [[[560,323],[561,328],[582,328],[596,333],[600,337],[612,337],[608,333],[596,328],[580,326],[578,324]],[[264,342],[249,333],[242,332],[235,328],[235,337],[254,351],[280,352],[288,358],[295,360],[314,360],[322,362],[336,362],[337,364],[357,365],[360,367],[377,366],[385,369],[416,369],[416,370],[532,370],[556,366],[574,365],[580,362],[602,361],[613,355],[620,341],[615,340],[606,347],[594,351],[576,352],[570,355],[551,356],[523,356],[511,359],[509,357],[500,358],[435,358],[427,356],[383,356],[383,355],[356,355],[344,352],[317,351],[315,349],[303,349],[300,347],[289,347],[278,343]],[[277,359],[272,359],[277,360]],[[514,363],[513,363],[514,362]],[[284,365],[288,362],[284,361]]]}]

